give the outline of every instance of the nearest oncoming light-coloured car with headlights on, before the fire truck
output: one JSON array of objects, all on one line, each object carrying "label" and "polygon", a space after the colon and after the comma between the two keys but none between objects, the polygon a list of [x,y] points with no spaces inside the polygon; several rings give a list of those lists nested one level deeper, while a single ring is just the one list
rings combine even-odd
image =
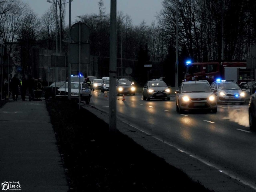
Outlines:
[{"label": "nearest oncoming light-coloured car with headlights on, before the fire truck", "polygon": [[212,90],[208,81],[185,81],[176,93],[176,111],[205,109],[217,113],[217,90]]}]

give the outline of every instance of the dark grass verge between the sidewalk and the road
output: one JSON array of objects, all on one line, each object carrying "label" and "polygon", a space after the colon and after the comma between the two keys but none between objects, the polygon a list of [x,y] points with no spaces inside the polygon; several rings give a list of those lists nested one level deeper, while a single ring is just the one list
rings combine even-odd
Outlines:
[{"label": "dark grass verge between the sidewalk and the road", "polygon": [[210,191],[76,103],[46,104],[70,191]]}]

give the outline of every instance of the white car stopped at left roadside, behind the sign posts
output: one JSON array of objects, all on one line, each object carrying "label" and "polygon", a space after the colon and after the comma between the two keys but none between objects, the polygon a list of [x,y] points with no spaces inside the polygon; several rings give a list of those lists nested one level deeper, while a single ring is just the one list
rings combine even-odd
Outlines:
[{"label": "white car stopped at left roadside, behind the sign posts", "polygon": [[[84,83],[80,83],[81,86],[79,86],[79,82],[72,81],[71,82],[71,99],[79,101],[79,87],[80,89],[80,95],[81,95],[81,100],[84,100],[86,104],[90,103],[90,98],[91,98],[91,89],[90,87]],[[68,96],[68,82],[66,82],[66,90],[65,90],[65,84],[63,84],[59,89],[57,93],[57,98],[61,98],[64,96],[64,93],[66,91],[66,96]]]}]

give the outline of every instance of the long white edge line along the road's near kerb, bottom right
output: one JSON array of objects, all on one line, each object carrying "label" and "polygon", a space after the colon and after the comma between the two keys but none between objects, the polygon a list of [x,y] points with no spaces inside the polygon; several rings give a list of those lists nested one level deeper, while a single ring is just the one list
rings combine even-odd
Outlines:
[{"label": "long white edge line along the road's near kerb, bottom right", "polygon": [[225,175],[228,175],[229,177],[235,179],[236,181],[239,181],[239,182],[241,182],[242,184],[245,184],[245,185],[247,185],[247,186],[249,186],[249,187],[251,187],[251,188],[253,188],[253,189],[256,189],[255,185],[250,184],[250,183],[248,183],[247,181],[242,180],[242,179],[239,178],[237,175],[232,175],[232,174],[230,174],[229,172],[224,171],[223,169],[220,169],[220,167],[218,167],[217,165],[208,163],[206,160],[203,160],[202,158],[197,157],[197,156],[191,154],[190,152],[187,152],[187,151],[185,151],[185,150],[182,150],[182,149],[180,149],[178,146],[173,145],[173,144],[171,144],[171,143],[169,143],[169,142],[166,142],[166,141],[164,141],[163,139],[160,139],[160,138],[158,138],[158,137],[156,137],[156,136],[152,136],[152,137],[155,138],[155,139],[157,139],[157,140],[159,140],[159,141],[161,141],[161,142],[163,142],[163,143],[165,143],[166,145],[169,145],[169,146],[171,146],[171,147],[176,148],[178,151],[181,151],[181,152],[183,152],[183,153],[185,153],[185,154],[187,154],[187,155],[190,155],[191,157],[194,157],[195,159],[201,161],[202,163],[204,163],[204,164],[206,164],[206,165],[208,165],[208,166],[210,166],[210,167],[212,167],[212,168],[214,168],[214,169],[219,170],[220,172],[224,173]]}]

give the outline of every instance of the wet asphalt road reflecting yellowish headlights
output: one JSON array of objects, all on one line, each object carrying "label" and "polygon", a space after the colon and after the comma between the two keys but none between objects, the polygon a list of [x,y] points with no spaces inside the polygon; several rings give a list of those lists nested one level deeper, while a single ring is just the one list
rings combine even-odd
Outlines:
[{"label": "wet asphalt road reflecting yellowish headlights", "polygon": [[[256,186],[256,133],[248,123],[248,105],[218,105],[205,111],[178,114],[170,101],[144,101],[142,94],[117,96],[117,117],[239,180]],[[108,97],[92,91],[90,105],[108,111]],[[256,188],[256,187],[255,187]]]}]

